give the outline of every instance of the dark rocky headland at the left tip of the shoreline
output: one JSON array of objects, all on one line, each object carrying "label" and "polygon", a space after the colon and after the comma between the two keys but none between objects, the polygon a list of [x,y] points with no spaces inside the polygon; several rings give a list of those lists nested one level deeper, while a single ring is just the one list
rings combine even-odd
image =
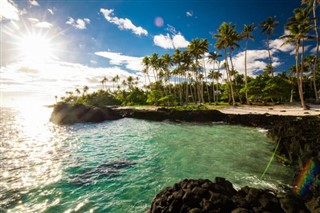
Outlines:
[{"label": "dark rocky headland at the left tip of the shoreline", "polygon": [[50,121],[56,124],[102,122],[120,119],[122,116],[111,108],[98,108],[82,104],[58,104],[54,107]]}]

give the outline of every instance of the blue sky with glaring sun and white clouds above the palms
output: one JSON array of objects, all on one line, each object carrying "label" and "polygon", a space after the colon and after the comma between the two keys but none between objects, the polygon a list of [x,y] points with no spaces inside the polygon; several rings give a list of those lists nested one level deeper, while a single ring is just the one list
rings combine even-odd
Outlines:
[{"label": "blue sky with glaring sun and white clouds above the palms", "polygon": [[[299,5],[300,0],[1,0],[1,102],[26,97],[53,102],[66,90],[99,89],[104,76],[117,74],[139,76],[143,84],[142,57],[173,53],[197,37],[208,39],[215,51],[212,34],[223,21],[240,32],[243,24],[275,16],[280,25],[271,37],[274,66],[287,70],[294,63],[293,46],[281,46],[278,37]],[[268,63],[260,31],[248,47],[252,75]],[[234,62],[242,73],[240,45]]]}]

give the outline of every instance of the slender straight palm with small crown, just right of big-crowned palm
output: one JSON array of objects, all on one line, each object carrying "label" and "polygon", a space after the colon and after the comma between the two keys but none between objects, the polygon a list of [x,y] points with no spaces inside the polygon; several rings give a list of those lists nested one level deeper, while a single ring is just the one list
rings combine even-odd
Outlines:
[{"label": "slender straight palm with small crown, just right of big-crowned palm", "polygon": [[247,50],[248,50],[248,41],[251,39],[254,41],[254,37],[252,35],[253,30],[255,29],[254,24],[244,25],[244,29],[242,31],[242,37],[246,39],[246,47],[244,53],[244,83],[245,83],[245,95],[247,104],[249,104],[248,99],[248,70],[247,70]]}]

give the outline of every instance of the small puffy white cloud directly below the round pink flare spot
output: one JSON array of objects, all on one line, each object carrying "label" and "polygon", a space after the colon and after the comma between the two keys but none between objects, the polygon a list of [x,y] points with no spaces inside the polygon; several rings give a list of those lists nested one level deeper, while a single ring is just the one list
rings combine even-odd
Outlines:
[{"label": "small puffy white cloud directly below the round pink flare spot", "polygon": [[156,35],[153,37],[153,43],[164,49],[174,49],[174,48],[185,48],[189,45],[189,42],[180,33],[170,36],[167,35]]}]

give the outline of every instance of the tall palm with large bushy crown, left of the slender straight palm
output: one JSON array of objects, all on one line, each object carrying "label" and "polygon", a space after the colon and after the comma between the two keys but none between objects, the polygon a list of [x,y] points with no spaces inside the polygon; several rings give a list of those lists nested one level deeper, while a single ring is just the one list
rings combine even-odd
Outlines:
[{"label": "tall palm with large bushy crown, left of the slender straight palm", "polygon": [[[231,23],[223,22],[218,28],[218,34],[215,34],[213,37],[217,39],[215,43],[215,47],[219,50],[223,49],[224,58],[225,58],[225,68],[227,73],[227,81],[229,83],[229,103],[230,98],[232,101],[232,105],[235,106],[236,102],[234,99],[233,85],[231,80],[230,67],[228,63],[228,54],[227,49],[229,48],[229,55],[231,57],[231,52],[234,46],[237,46],[236,41],[239,40],[239,34],[237,34],[235,30],[235,25],[231,25]],[[230,61],[231,62],[231,61]],[[232,63],[231,63],[232,65]],[[233,65],[232,65],[233,66]]]}]

